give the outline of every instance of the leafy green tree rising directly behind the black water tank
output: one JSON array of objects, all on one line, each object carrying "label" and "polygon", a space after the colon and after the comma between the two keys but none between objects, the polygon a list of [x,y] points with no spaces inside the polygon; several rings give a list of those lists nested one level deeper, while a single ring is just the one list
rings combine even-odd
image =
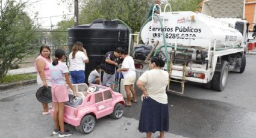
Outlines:
[{"label": "leafy green tree rising directly behind the black water tank", "polygon": [[[69,8],[72,2],[59,0]],[[93,20],[103,18],[107,20],[120,19],[134,31],[139,31],[140,26],[148,16],[149,8],[154,0],[81,0],[79,23],[92,23]]]}]

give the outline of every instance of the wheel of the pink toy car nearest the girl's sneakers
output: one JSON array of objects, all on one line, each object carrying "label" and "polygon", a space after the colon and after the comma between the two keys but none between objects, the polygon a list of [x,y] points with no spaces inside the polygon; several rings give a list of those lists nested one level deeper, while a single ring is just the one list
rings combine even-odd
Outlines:
[{"label": "wheel of the pink toy car nearest the girl's sneakers", "polygon": [[95,127],[95,118],[92,115],[86,115],[83,117],[80,126],[76,130],[80,130],[81,133],[89,134]]}]

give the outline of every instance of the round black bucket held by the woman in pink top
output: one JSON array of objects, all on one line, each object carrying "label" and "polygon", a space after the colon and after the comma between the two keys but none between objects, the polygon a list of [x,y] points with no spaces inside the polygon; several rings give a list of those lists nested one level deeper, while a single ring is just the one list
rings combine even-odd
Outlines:
[{"label": "round black bucket held by the woman in pink top", "polygon": [[39,100],[41,103],[51,103],[52,102],[52,92],[51,92],[51,86],[42,86],[39,89],[37,89],[36,92],[37,100]]}]

